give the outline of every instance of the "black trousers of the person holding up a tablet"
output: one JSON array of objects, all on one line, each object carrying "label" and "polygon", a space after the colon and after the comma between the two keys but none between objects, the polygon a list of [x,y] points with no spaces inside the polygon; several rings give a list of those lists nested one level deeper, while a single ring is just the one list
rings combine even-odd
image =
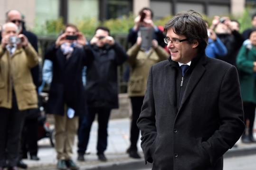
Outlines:
[{"label": "black trousers of the person holding up a tablet", "polygon": [[131,129],[130,129],[130,150],[137,151],[137,142],[139,139],[140,129],[137,126],[137,120],[140,116],[142,104],[143,104],[144,96],[142,97],[131,97],[132,103],[132,122],[131,122]]}]

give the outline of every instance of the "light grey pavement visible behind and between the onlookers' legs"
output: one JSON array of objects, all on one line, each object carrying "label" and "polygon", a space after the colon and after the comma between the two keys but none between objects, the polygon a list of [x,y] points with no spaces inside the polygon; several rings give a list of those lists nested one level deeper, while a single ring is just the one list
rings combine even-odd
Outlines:
[{"label": "light grey pavement visible behind and between the onlookers' legs", "polygon": [[[90,140],[88,144],[89,154],[85,155],[85,161],[77,162],[77,147],[76,144],[73,149],[73,160],[77,162],[80,170],[138,170],[145,166],[149,168],[152,166],[150,163],[145,165],[143,159],[142,149],[140,147],[140,140],[137,143],[138,152],[142,159],[129,158],[126,149],[129,147],[129,128],[130,119],[111,119],[108,127],[108,146],[105,155],[108,159],[106,162],[98,161],[96,155],[96,142],[97,142],[97,122],[92,125]],[[255,134],[256,137],[256,134]],[[75,143],[77,143],[77,138]],[[31,161],[29,159],[23,160],[28,164],[28,170],[56,170],[56,152],[50,145],[48,138],[38,141],[38,157],[39,161]],[[241,156],[248,154],[256,154],[256,143],[244,144],[241,140],[236,143],[237,147],[233,147],[224,158],[233,156]]]}]

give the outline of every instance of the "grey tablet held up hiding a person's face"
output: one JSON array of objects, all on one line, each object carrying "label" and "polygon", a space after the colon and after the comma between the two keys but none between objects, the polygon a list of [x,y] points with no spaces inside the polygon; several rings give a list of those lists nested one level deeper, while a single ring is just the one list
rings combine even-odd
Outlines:
[{"label": "grey tablet held up hiding a person's face", "polygon": [[144,50],[148,50],[152,46],[153,29],[152,27],[140,27],[139,35],[142,37],[141,48]]}]

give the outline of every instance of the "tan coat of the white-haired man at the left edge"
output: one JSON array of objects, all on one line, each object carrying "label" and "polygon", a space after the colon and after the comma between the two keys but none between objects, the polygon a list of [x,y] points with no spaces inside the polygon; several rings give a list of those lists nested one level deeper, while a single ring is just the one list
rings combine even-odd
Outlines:
[{"label": "tan coat of the white-haired man at the left edge", "polygon": [[38,54],[32,45],[9,52],[0,46],[0,107],[11,108],[12,89],[19,110],[38,107],[36,87],[30,69],[38,64]]}]

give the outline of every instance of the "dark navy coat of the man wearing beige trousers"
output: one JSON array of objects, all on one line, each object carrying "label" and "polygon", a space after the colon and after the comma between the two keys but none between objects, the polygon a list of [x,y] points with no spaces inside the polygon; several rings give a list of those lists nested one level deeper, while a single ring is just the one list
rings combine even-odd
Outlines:
[{"label": "dark navy coat of the man wearing beige trousers", "polygon": [[82,69],[88,59],[84,48],[75,47],[72,55],[66,60],[60,47],[52,46],[45,54],[45,58],[53,63],[53,78],[47,102],[47,113],[64,115],[64,104],[66,104],[67,107],[75,110],[76,116],[84,114],[85,97]]}]

